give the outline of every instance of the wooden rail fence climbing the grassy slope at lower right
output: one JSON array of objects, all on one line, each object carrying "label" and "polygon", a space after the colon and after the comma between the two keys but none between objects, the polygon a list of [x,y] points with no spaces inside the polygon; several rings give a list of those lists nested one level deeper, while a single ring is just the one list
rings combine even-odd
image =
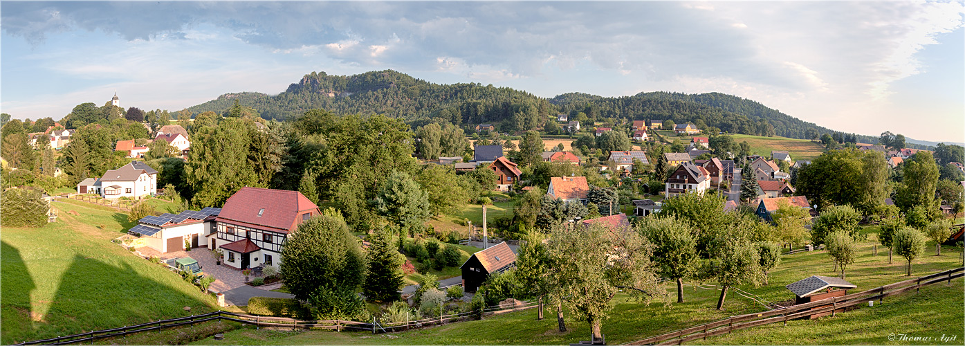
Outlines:
[{"label": "wooden rail fence climbing the grassy slope at lower right", "polygon": [[885,297],[895,296],[904,292],[915,290],[916,292],[925,285],[942,281],[951,282],[952,278],[962,277],[965,268],[956,268],[936,274],[912,278],[868,291],[850,294],[842,297],[833,297],[811,303],[802,303],[787,307],[777,308],[770,311],[756,312],[745,315],[731,316],[726,319],[717,320],[703,325],[697,325],[674,332],[667,332],[660,335],[650,336],[645,339],[632,341],[625,345],[679,345],[686,341],[696,339],[706,339],[708,336],[725,334],[731,331],[743,330],[751,327],[763,326],[766,324],[784,322],[811,315],[821,315],[831,313],[836,314],[849,306],[856,306],[869,301],[883,301]]}]

